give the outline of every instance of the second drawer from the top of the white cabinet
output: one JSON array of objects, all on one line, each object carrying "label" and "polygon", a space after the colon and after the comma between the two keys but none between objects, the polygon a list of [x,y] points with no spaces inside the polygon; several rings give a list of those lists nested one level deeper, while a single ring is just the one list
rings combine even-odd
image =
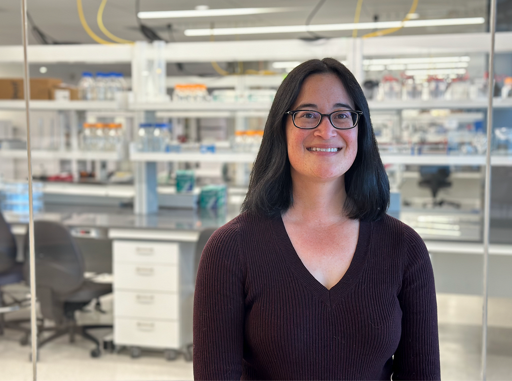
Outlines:
[{"label": "second drawer from the top of the white cabinet", "polygon": [[114,262],[114,289],[178,291],[178,267]]}]

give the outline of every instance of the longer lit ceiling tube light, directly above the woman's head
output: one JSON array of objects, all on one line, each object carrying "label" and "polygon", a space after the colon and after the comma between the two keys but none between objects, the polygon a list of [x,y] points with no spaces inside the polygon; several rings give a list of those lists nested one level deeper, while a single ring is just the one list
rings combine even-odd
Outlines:
[{"label": "longer lit ceiling tube light, directly above the woman's head", "polygon": [[275,27],[240,27],[240,28],[214,28],[214,29],[185,29],[185,36],[226,36],[232,34],[267,34],[267,33],[297,33],[297,32],[325,32],[337,30],[363,30],[382,28],[415,28],[449,25],[475,25],[485,23],[483,17],[470,18],[442,18],[432,20],[387,21],[358,24],[319,24],[319,25],[283,25]]}]

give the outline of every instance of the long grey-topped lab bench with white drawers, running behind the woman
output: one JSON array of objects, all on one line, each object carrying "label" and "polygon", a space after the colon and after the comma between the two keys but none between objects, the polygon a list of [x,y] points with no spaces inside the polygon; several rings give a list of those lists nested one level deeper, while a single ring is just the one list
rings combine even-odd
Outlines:
[{"label": "long grey-topped lab bench with white drawers, running behind the woman", "polygon": [[[138,348],[152,347],[167,350],[166,356],[173,358],[176,349],[189,355],[192,342],[194,263],[200,231],[220,227],[239,210],[240,205],[228,204],[224,212],[160,209],[157,214],[136,215],[130,207],[46,204],[45,212],[35,219],[68,226],[82,247],[87,270],[113,272],[114,342],[131,347],[134,357],[140,354]],[[481,294],[481,216],[452,212],[404,208],[401,217],[411,225],[411,221],[430,221],[423,233],[419,231],[430,252],[438,292]],[[450,213],[450,224],[459,224],[461,236],[442,240],[433,232],[446,227]],[[15,233],[25,234],[26,219],[7,217]],[[445,221],[439,224],[439,219]],[[101,253],[95,252],[99,242]],[[491,242],[489,295],[510,298],[512,242]]]}]

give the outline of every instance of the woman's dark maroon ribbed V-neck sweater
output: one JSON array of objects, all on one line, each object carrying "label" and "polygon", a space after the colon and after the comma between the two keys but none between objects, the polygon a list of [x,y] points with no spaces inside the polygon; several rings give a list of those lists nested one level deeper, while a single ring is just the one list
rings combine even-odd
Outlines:
[{"label": "woman's dark maroon ribbed V-neck sweater", "polygon": [[440,379],[436,295],[416,232],[361,221],[330,290],[297,256],[281,217],[242,213],[210,238],[194,301],[196,381]]}]

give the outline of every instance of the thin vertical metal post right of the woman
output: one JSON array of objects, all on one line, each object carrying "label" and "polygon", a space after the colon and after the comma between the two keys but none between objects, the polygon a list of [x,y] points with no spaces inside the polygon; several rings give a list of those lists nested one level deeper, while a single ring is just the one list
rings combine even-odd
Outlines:
[{"label": "thin vertical metal post right of the woman", "polygon": [[496,34],[496,0],[490,0],[489,14],[490,52],[487,94],[487,153],[485,159],[485,192],[483,219],[483,308],[482,308],[482,381],[487,378],[487,298],[489,266],[490,227],[490,143],[493,137],[493,95],[494,95],[494,41]]}]

